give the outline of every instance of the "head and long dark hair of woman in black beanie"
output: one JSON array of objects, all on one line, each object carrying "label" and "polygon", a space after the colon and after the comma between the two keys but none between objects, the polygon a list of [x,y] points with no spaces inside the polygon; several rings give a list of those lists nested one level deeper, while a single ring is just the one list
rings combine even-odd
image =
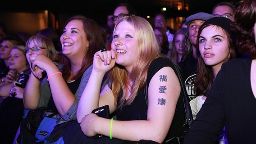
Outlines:
[{"label": "head and long dark hair of woman in black beanie", "polygon": [[[194,81],[198,95],[205,95],[210,89],[220,67],[236,58],[235,35],[231,31],[231,20],[211,18],[198,31],[197,76]],[[206,40],[206,36],[212,39]]]}]

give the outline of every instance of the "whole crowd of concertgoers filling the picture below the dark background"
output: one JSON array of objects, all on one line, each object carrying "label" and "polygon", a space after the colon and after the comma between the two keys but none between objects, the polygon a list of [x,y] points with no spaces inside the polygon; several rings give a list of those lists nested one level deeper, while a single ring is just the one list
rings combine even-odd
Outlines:
[{"label": "whole crowd of concertgoers filling the picture below the dark background", "polygon": [[[194,120],[184,144],[255,141],[256,0],[220,2],[183,24],[174,30],[156,13],[151,25],[128,3],[105,25],[74,15],[60,36],[0,23],[1,143],[167,143],[182,85]],[[105,105],[110,119],[91,113]],[[42,107],[58,119],[38,140],[26,118]]]}]

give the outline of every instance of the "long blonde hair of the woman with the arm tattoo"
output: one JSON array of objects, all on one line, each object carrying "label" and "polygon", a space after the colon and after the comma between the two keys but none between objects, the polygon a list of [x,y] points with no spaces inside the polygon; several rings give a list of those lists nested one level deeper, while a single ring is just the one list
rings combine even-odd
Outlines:
[{"label": "long blonde hair of the woman with the arm tattoo", "polygon": [[[139,49],[139,52],[137,55],[137,63],[134,63],[130,75],[123,66],[118,64],[115,64],[113,69],[110,71],[110,87],[112,88],[115,102],[117,102],[117,98],[121,90],[123,90],[123,94],[120,95],[121,98],[118,108],[122,108],[123,105],[129,105],[133,102],[138,91],[146,84],[147,72],[150,63],[161,55],[160,46],[155,38],[153,28],[146,19],[139,16],[123,17],[114,27],[114,31],[119,23],[122,23],[123,21],[127,21],[134,27],[137,43],[139,44],[139,47],[137,48]],[[129,91],[128,85],[130,85],[130,81],[133,81],[133,85],[131,85],[131,95],[127,101],[125,101],[125,94]]]}]

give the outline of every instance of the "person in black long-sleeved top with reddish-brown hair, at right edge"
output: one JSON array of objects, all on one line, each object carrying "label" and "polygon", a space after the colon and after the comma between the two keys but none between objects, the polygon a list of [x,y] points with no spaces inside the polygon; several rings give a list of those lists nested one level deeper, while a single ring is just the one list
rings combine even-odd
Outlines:
[{"label": "person in black long-sleeved top with reddish-brown hair, at right edge", "polygon": [[229,144],[256,140],[256,0],[241,0],[234,18],[238,49],[251,58],[222,64],[184,144],[216,144],[224,126]]}]

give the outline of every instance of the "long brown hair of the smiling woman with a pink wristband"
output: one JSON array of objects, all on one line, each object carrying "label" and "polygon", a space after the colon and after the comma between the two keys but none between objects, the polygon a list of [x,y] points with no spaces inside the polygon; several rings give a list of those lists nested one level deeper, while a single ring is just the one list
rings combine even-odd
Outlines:
[{"label": "long brown hair of the smiling woman with a pink wristband", "polygon": [[[82,76],[85,70],[92,64],[94,54],[97,51],[99,51],[100,48],[104,48],[105,43],[103,40],[103,36],[101,35],[101,29],[94,20],[92,20],[91,18],[86,18],[85,16],[82,16],[82,15],[75,15],[66,21],[66,23],[64,24],[64,27],[66,27],[66,25],[72,20],[80,20],[83,23],[83,29],[86,34],[87,40],[89,41],[89,48],[84,54],[82,67],[77,72],[76,75],[73,75],[71,77],[71,79],[76,80],[80,76]],[[63,72],[62,72],[63,78],[65,81],[67,81],[71,76],[70,60],[67,57],[64,57],[63,64],[64,64]]]}]

